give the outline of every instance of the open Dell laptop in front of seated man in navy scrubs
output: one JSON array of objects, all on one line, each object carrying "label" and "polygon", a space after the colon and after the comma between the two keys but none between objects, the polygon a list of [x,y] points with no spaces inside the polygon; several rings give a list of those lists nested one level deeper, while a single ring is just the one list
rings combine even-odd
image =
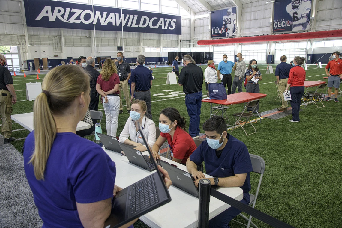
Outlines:
[{"label": "open Dell laptop in front of seated man in navy scrubs", "polygon": [[[168,162],[160,161],[161,166],[168,171],[172,181],[172,185],[185,191],[186,193],[198,198],[198,188],[196,187],[194,177],[177,167],[170,165]],[[218,189],[219,186],[211,186],[213,189]]]}]

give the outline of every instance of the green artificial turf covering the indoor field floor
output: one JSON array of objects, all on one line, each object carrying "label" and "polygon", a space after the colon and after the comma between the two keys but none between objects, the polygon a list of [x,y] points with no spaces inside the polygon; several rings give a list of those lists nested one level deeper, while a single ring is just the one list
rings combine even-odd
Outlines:
[{"label": "green artificial turf covering the indoor field floor", "polygon": [[[201,67],[204,71],[206,66]],[[260,92],[267,94],[266,98],[261,99],[259,111],[278,108],[280,102],[275,101],[277,97],[275,76],[265,74],[267,65],[259,65],[259,67],[263,75]],[[273,68],[275,69],[275,66]],[[158,126],[160,111],[172,106],[185,117],[188,126],[189,117],[184,101],[185,95],[181,93],[182,87],[178,84],[165,85],[167,72],[170,71],[171,67],[153,68],[153,75],[156,77],[151,88],[153,120]],[[27,76],[27,79],[23,76],[13,77],[15,90],[25,90],[25,83],[42,82],[44,77],[40,75],[41,79],[36,80],[35,75]],[[308,66],[306,76],[308,81],[326,81],[323,79],[324,68],[316,69],[316,66]],[[203,89],[203,93],[206,93],[204,83]],[[180,94],[172,95],[171,92],[175,91],[179,91]],[[153,96],[156,94],[159,95]],[[34,101],[20,101],[26,100],[26,91],[17,91],[17,95],[19,102],[13,105],[13,114],[32,112]],[[174,97],[165,97],[170,95]],[[125,102],[123,100],[123,105]],[[247,145],[251,154],[261,156],[266,163],[256,209],[295,227],[341,227],[341,103],[324,102],[325,108],[320,109],[310,104],[300,112],[299,123],[290,123],[288,120],[292,116],[276,120],[262,119],[261,124],[260,121],[254,124],[258,133],[251,136],[246,136],[240,128],[232,132],[234,137]],[[243,107],[244,104],[230,106],[227,112],[231,123],[234,118],[231,114],[241,112]],[[209,108],[209,103],[202,103],[200,129],[210,116]],[[103,111],[103,106],[100,104],[98,109]],[[124,107],[124,112],[119,115],[118,132],[121,132],[129,117],[125,110]],[[105,116],[101,125],[105,133]],[[18,124],[13,124],[13,130],[22,128]],[[245,128],[247,131],[253,130],[249,125]],[[17,139],[25,138],[28,133],[28,130],[19,130],[14,131],[13,136]],[[12,144],[20,151],[24,139],[14,141]],[[259,174],[251,173],[252,194],[255,193],[258,181]],[[241,218],[237,220],[243,222]],[[258,227],[270,227],[258,219],[253,218],[252,221]],[[134,226],[147,227],[141,221],[136,222]],[[231,227],[244,226],[232,222]]]}]

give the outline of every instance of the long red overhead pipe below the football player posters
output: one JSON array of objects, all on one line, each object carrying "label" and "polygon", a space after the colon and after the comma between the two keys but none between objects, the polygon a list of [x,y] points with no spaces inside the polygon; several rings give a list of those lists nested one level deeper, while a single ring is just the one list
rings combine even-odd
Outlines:
[{"label": "long red overhead pipe below the football player posters", "polygon": [[228,39],[214,39],[214,40],[199,40],[198,45],[212,45],[212,44],[232,44],[232,43],[251,43],[263,41],[279,41],[279,40],[304,40],[304,39],[317,39],[327,37],[342,37],[342,29],[319,31],[319,32],[300,32],[288,33],[278,35],[259,35],[254,37],[240,37]]}]

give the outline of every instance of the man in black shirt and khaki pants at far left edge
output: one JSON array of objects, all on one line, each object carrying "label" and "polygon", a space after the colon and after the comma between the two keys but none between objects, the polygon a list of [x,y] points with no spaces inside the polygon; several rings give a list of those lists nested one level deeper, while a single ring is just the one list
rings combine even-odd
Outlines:
[{"label": "man in black shirt and khaki pants at far left edge", "polygon": [[17,95],[14,91],[13,78],[6,65],[6,58],[0,54],[0,113],[2,117],[1,133],[4,136],[3,143],[15,140],[12,135],[12,104],[17,102]]}]

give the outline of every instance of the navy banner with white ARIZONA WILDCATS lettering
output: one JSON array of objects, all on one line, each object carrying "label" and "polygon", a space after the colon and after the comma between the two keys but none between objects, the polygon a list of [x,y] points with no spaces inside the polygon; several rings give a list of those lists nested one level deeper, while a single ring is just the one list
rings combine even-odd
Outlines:
[{"label": "navy banner with white ARIZONA WILDCATS lettering", "polygon": [[181,16],[49,0],[24,7],[29,27],[182,34]]}]

